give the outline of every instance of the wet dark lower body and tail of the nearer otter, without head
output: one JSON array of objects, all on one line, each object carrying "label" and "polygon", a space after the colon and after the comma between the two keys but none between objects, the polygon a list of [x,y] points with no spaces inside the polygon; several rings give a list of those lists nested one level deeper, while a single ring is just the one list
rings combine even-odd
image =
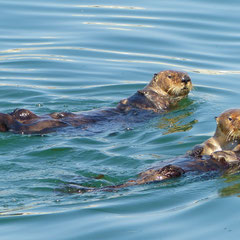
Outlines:
[{"label": "wet dark lower body and tail of the nearer otter, without head", "polygon": [[[173,159],[171,164],[150,168],[138,174],[136,179],[129,180],[123,184],[105,186],[100,188],[84,187],[72,184],[71,192],[86,193],[95,191],[114,191],[121,188],[150,184],[165,181],[168,179],[179,178],[187,174],[201,174],[205,172],[234,173],[240,170],[240,154],[234,158],[234,161],[228,161],[224,158],[216,159],[213,156],[193,157],[190,155],[180,156]],[[235,155],[236,156],[236,155]]]}]

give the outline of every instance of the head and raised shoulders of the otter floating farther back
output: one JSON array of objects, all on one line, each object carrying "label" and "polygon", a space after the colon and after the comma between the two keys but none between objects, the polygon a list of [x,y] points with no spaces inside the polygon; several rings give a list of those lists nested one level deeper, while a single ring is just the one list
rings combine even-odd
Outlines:
[{"label": "head and raised shoulders of the otter floating farther back", "polygon": [[190,77],[183,72],[162,71],[155,74],[152,81],[143,89],[118,104],[118,109],[129,111],[132,108],[163,112],[176,105],[192,89]]}]

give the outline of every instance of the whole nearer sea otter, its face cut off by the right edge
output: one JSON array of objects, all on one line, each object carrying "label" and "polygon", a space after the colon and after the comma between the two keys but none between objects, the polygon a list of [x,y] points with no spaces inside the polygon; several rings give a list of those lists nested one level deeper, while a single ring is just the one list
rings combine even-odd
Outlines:
[{"label": "whole nearer sea otter, its face cut off by the right edge", "polygon": [[[236,172],[240,170],[240,109],[230,109],[216,117],[217,128],[209,138],[193,150],[173,159],[166,166],[141,172],[137,179],[101,188],[77,187],[77,192],[111,191],[123,187],[177,178],[188,172]],[[75,186],[76,187],[76,186]]]}]

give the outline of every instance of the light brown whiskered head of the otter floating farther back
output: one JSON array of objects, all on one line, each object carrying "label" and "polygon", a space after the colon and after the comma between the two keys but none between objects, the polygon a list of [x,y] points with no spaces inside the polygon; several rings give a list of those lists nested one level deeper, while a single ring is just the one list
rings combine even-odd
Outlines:
[{"label": "light brown whiskered head of the otter floating farther back", "polygon": [[167,70],[155,74],[149,86],[173,97],[184,97],[191,91],[192,82],[187,73]]}]

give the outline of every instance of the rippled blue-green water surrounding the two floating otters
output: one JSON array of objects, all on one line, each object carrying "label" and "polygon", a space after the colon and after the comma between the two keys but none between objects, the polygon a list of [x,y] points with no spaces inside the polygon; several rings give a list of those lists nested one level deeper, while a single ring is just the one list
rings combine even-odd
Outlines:
[{"label": "rippled blue-green water surrounding the two floating otters", "polygon": [[[0,236],[9,239],[236,239],[239,175],[107,186],[184,154],[239,107],[240,3],[0,0],[0,111],[113,107],[153,73],[184,70],[181,109],[131,130],[0,134]],[[103,179],[96,179],[104,174]]]}]

